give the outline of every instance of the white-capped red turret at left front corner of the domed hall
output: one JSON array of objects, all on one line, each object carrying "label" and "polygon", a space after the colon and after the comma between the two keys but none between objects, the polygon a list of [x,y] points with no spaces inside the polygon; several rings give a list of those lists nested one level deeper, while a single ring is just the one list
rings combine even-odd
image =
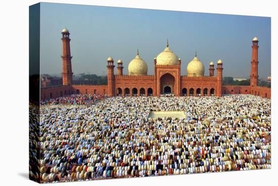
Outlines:
[{"label": "white-capped red turret at left front corner of the domed hall", "polygon": [[107,59],[107,85],[108,85],[108,96],[113,97],[114,89],[115,89],[115,82],[114,82],[114,60],[112,57]]}]

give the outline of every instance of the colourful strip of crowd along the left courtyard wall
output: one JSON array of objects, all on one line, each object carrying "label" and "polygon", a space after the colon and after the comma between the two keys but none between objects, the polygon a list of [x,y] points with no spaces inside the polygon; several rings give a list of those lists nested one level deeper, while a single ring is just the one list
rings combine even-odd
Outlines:
[{"label": "colourful strip of crowd along the left courtyard wall", "polygon": [[42,99],[40,105],[58,105],[58,104],[74,104],[74,105],[89,105],[98,100],[107,97],[104,94],[72,94],[69,96],[62,96],[58,98]]}]

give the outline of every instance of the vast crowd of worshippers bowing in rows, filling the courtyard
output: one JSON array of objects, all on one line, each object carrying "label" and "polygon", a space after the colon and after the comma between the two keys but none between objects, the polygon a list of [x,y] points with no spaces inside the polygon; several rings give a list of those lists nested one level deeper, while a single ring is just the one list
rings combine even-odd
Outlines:
[{"label": "vast crowd of worshippers bowing in rows, filling the courtyard", "polygon": [[[73,95],[43,104],[76,104]],[[77,101],[79,100],[79,101]],[[41,182],[271,168],[270,99],[111,97],[40,109]],[[184,118],[151,118],[152,111]]]}]

